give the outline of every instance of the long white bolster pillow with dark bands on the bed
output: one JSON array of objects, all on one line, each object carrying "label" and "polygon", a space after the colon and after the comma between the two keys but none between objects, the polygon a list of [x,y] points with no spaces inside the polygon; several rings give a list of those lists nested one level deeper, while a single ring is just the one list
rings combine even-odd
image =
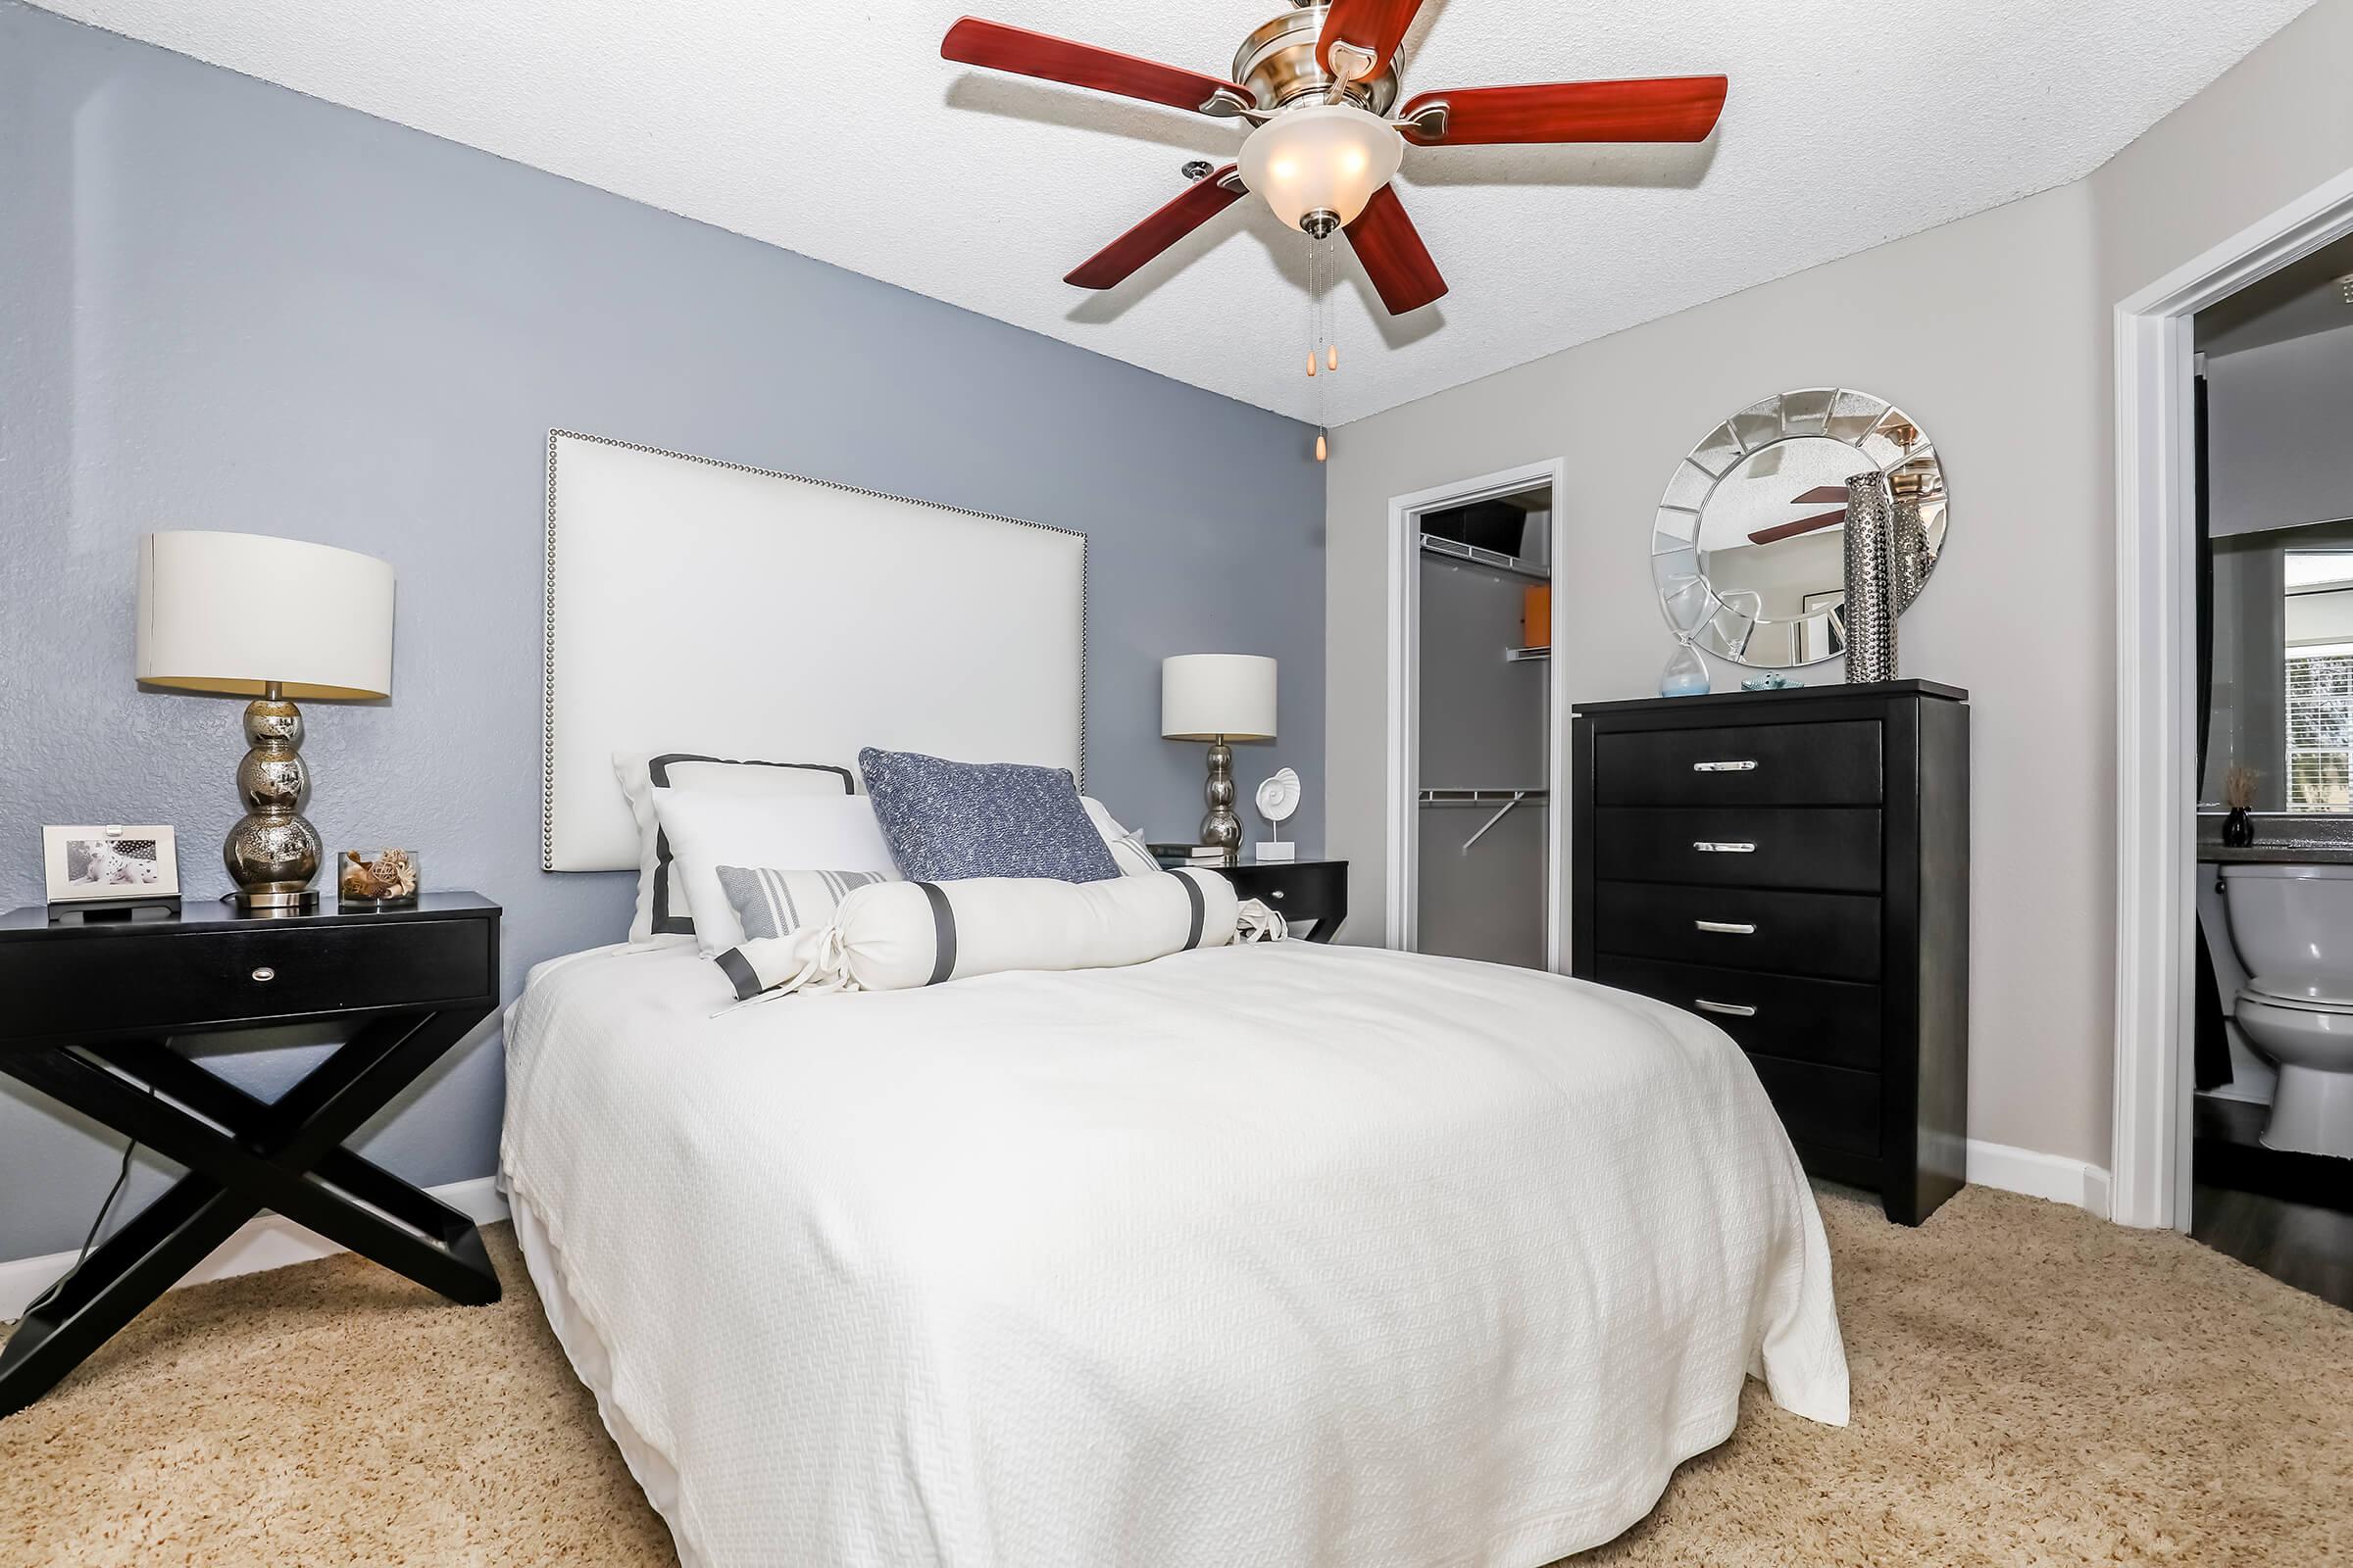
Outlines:
[{"label": "long white bolster pillow with dark bands on the bed", "polygon": [[1118,969],[1233,940],[1233,884],[1209,870],[1056,882],[969,877],[852,889],[831,926],[729,947],[736,997],[911,990],[1007,969]]}]

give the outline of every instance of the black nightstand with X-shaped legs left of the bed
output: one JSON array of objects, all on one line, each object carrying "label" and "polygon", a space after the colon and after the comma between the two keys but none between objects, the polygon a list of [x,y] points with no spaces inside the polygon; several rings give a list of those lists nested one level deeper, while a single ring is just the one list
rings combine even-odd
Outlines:
[{"label": "black nightstand with X-shaped legs left of the bed", "polygon": [[[499,1300],[473,1220],[341,1147],[499,1006],[499,905],[49,924],[0,917],[0,1072],[188,1168],[0,1347],[0,1415],[26,1408],[240,1225],[273,1208],[449,1300]],[[348,1018],[278,1100],[165,1041]],[[228,1128],[226,1133],[221,1128]],[[315,1180],[313,1180],[315,1178]],[[94,1197],[94,1194],[92,1194]]]}]

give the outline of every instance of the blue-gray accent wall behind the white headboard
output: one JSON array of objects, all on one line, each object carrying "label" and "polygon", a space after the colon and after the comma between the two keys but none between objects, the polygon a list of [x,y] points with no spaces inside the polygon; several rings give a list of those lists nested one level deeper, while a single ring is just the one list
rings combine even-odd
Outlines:
[{"label": "blue-gray accent wall behind the white headboard", "polygon": [[[132,571],[146,529],[247,529],[400,571],[393,701],[311,710],[329,849],[412,844],[499,898],[508,992],[621,936],[628,877],[536,870],[551,425],[1085,529],[1094,792],[1188,835],[1158,661],[1273,654],[1282,741],[1240,771],[1299,766],[1322,839],[1297,423],[14,0],[0,233],[0,905],[40,900],[42,823],[172,823],[188,893],[226,886],[238,705],[134,689]],[[311,1056],[219,1065],[271,1091]],[[485,1032],[367,1147],[487,1175],[499,1105]],[[0,1258],[75,1246],[113,1161],[0,1088]]]}]

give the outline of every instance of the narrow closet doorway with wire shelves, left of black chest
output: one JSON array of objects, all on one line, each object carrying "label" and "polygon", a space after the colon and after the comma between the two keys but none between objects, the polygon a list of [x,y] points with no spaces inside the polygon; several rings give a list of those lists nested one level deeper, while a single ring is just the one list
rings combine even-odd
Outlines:
[{"label": "narrow closet doorway with wire shelves, left of black chest", "polygon": [[1388,945],[1565,969],[1562,463],[1388,503]]}]

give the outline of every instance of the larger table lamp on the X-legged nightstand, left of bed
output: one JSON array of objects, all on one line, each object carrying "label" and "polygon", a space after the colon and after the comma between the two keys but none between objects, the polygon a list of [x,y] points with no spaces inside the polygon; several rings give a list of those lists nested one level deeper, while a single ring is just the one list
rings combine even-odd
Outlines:
[{"label": "larger table lamp on the X-legged nightstand, left of bed", "polygon": [[264,534],[139,538],[139,684],[252,696],[221,860],[240,910],[318,903],[318,830],[294,698],[393,693],[393,567],[374,555]]}]

